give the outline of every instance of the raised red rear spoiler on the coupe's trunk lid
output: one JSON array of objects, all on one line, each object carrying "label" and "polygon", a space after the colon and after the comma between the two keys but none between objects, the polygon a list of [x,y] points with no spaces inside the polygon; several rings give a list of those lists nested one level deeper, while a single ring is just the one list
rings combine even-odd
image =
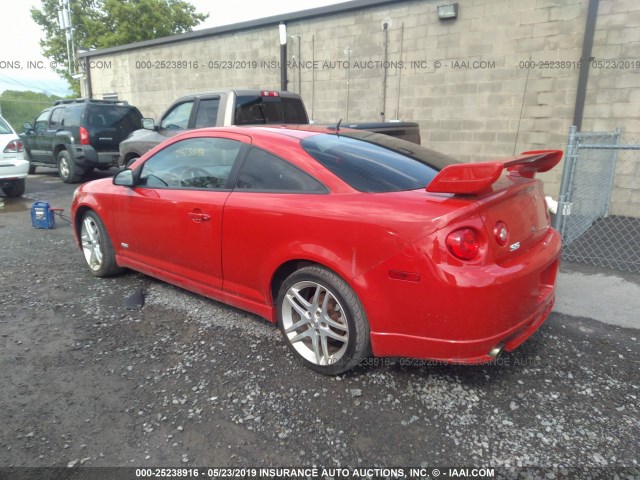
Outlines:
[{"label": "raised red rear spoiler on the coupe's trunk lid", "polygon": [[473,195],[493,185],[505,169],[511,176],[533,178],[537,172],[551,170],[561,159],[562,150],[533,150],[494,162],[449,165],[427,185],[427,192]]}]

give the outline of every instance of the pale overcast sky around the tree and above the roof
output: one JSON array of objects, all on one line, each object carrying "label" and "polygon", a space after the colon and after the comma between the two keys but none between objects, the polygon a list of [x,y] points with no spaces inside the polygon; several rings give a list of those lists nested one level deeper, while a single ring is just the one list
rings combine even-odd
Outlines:
[{"label": "pale overcast sky around the tree and above the roof", "polygon": [[[70,0],[73,2],[73,0]],[[191,0],[199,12],[209,13],[205,23],[196,29],[228,25],[231,23],[270,17],[281,13],[307,10],[310,8],[343,3],[347,0],[233,0],[213,2],[212,0]],[[39,7],[40,0],[19,0],[5,2],[0,16],[0,92],[4,90],[33,90],[48,94],[66,95],[66,82],[48,68],[26,68],[27,62],[49,61],[41,54],[39,41],[40,27],[31,19],[29,10]],[[212,6],[215,5],[215,8]],[[222,5],[222,6],[221,6]],[[20,68],[15,68],[19,62]],[[12,67],[13,66],[13,67]]]}]

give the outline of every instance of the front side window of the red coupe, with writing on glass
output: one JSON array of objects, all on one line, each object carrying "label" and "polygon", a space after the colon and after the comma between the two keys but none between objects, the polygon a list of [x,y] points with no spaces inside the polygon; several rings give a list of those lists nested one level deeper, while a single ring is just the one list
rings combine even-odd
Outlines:
[{"label": "front side window of the red coupe, with writing on glass", "polygon": [[188,138],[159,151],[142,166],[138,184],[153,188],[224,189],[242,143]]}]

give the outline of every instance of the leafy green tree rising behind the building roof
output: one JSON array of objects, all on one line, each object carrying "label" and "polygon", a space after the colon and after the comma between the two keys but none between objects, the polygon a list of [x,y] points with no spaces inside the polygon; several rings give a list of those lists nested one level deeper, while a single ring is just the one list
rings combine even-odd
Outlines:
[{"label": "leafy green tree rising behind the building roof", "polygon": [[[184,0],[69,0],[73,42],[76,46],[100,49],[126,45],[189,32],[207,19]],[[67,39],[58,23],[59,0],[41,0],[32,7],[31,18],[42,27],[40,46],[45,57],[67,64]],[[58,73],[79,95],[79,83],[66,68]]]}]

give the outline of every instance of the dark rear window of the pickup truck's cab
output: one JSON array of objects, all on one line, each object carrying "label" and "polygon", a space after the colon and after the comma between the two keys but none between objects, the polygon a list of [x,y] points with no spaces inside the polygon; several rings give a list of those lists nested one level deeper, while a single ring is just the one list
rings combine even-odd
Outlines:
[{"label": "dark rear window of the pickup truck's cab", "polygon": [[236,98],[236,125],[308,123],[299,98],[239,95]]}]

